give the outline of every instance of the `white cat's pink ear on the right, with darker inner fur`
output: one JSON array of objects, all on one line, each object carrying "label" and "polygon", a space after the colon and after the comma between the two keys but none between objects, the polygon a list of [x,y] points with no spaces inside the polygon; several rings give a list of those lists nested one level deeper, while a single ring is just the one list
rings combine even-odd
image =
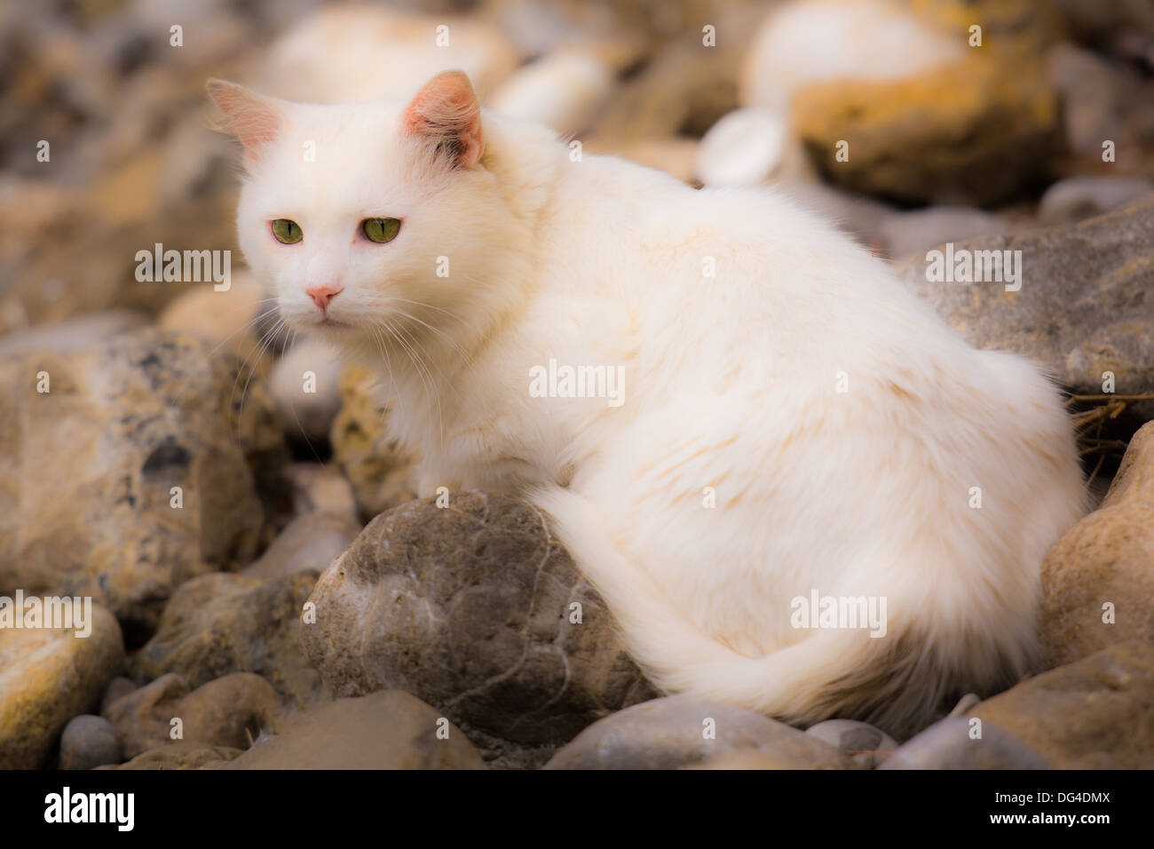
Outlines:
[{"label": "white cat's pink ear on the right, with darker inner fur", "polygon": [[409,104],[403,127],[427,142],[452,167],[472,167],[481,158],[481,104],[460,70],[442,70]]}]

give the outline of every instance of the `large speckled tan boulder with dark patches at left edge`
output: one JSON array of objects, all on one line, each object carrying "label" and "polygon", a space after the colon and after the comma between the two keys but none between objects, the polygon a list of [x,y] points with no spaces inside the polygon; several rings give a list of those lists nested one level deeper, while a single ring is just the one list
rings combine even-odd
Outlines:
[{"label": "large speckled tan boulder with dark patches at left edge", "polygon": [[92,596],[134,642],[177,586],[252,561],[284,449],[256,381],[240,403],[246,380],[208,342],[155,330],[9,358],[0,593]]}]

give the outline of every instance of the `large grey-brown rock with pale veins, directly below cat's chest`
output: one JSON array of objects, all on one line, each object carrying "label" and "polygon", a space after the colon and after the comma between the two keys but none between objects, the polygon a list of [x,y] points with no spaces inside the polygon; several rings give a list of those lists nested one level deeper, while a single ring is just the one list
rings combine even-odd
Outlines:
[{"label": "large grey-brown rock with pale veins, directly below cat's chest", "polygon": [[508,753],[502,740],[563,743],[654,694],[541,514],[504,496],[377,516],[310,601],[305,650],[338,695],[413,693],[490,757]]}]

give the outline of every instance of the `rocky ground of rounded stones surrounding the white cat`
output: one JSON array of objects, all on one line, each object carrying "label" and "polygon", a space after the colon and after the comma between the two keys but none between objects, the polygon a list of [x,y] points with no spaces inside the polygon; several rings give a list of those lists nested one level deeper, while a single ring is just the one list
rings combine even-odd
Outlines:
[{"label": "rocky ground of rounded stones surrounding the white cat", "polygon": [[[1154,12],[902,0],[946,46],[831,80],[781,2],[315,6],[0,9],[0,596],[96,604],[0,628],[0,768],[1154,767]],[[904,740],[659,698],[533,507],[414,500],[372,377],[254,321],[203,85],[445,66],[589,151],[781,187],[1063,385],[1097,507],[1041,566],[1044,669]],[[137,281],[155,243],[234,251],[231,289]],[[1020,291],[928,282],[945,243],[1021,251]]]}]

